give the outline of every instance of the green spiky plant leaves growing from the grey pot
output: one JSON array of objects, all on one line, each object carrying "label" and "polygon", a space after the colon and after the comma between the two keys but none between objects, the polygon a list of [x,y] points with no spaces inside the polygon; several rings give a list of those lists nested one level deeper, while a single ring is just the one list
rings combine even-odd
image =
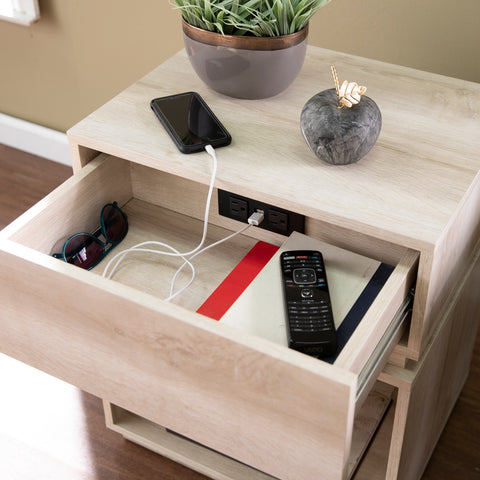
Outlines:
[{"label": "green spiky plant leaves growing from the grey pot", "polygon": [[274,37],[302,30],[330,0],[173,0],[194,27],[224,35]]}]

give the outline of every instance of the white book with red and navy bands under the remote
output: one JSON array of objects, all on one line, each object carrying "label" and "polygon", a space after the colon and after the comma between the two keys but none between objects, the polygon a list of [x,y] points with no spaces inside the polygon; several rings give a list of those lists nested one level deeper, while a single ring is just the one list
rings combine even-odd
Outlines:
[{"label": "white book with red and navy bands under the remote", "polygon": [[258,242],[198,312],[287,346],[280,253],[287,250],[322,252],[337,329],[333,363],[387,281],[393,267],[321,242],[298,232],[278,248]]}]

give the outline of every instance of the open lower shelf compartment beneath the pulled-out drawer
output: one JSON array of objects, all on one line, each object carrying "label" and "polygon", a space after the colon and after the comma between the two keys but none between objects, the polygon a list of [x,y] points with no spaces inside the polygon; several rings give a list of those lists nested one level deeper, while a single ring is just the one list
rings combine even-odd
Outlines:
[{"label": "open lower shelf compartment beneath the pulled-out drawer", "polygon": [[[377,382],[355,418],[352,447],[348,461],[347,478],[375,480],[385,478],[386,459],[390,445],[392,422],[382,422],[387,411],[394,411],[395,388]],[[391,407],[391,408],[389,408]],[[128,410],[104,401],[107,427],[120,433],[124,438],[149,450],[181,463],[215,480],[273,480],[266,473],[240,463],[199,443],[177,435]],[[390,415],[393,416],[393,413]],[[386,423],[386,425],[383,425]],[[382,425],[382,441],[373,442],[379,426]],[[372,450],[374,452],[370,452]],[[370,462],[368,457],[384,458],[385,462]],[[362,461],[362,459],[364,459]],[[362,462],[362,463],[361,463]],[[359,465],[361,463],[360,468]]]}]

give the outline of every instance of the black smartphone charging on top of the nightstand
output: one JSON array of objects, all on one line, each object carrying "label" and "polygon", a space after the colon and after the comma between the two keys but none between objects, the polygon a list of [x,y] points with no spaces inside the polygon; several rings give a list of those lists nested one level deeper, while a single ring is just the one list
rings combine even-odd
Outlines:
[{"label": "black smartphone charging on top of the nightstand", "polygon": [[183,153],[229,145],[232,137],[197,92],[155,98],[152,110]]}]

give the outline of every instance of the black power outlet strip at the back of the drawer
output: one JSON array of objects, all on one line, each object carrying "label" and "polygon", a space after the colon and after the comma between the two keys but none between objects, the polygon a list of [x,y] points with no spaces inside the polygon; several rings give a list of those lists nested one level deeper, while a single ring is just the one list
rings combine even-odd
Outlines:
[{"label": "black power outlet strip at the back of the drawer", "polygon": [[263,228],[282,235],[293,231],[305,233],[305,217],[251,198],[242,197],[225,190],[218,190],[218,213],[234,220],[247,223],[257,210],[264,213],[263,222],[256,228]]}]

